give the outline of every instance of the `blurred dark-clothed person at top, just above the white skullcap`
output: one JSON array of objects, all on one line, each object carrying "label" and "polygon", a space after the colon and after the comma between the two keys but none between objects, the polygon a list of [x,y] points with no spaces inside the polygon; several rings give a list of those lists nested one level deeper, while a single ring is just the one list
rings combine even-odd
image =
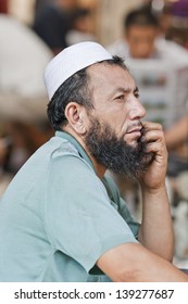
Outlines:
[{"label": "blurred dark-clothed person at top, just above the white skullcap", "polygon": [[76,9],[77,0],[49,0],[36,11],[33,28],[53,54],[67,47],[66,34]]}]

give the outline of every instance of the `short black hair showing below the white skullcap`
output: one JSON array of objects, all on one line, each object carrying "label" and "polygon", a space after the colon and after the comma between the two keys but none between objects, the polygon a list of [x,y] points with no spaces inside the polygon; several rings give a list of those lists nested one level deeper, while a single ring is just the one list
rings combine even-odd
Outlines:
[{"label": "short black hair showing below the white skullcap", "polygon": [[[113,56],[111,60],[100,62],[100,64],[118,65],[127,69],[124,60],[120,56]],[[65,107],[71,102],[77,102],[85,105],[86,109],[93,109],[91,92],[89,90],[89,77],[87,67],[78,71],[67,78],[55,91],[48,104],[47,114],[49,122],[54,130],[61,130],[62,126],[67,124],[65,117]]]}]

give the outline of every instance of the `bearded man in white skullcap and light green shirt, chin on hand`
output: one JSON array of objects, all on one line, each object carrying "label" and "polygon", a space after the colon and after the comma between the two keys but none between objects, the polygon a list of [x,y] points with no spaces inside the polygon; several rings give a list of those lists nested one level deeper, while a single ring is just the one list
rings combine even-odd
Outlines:
[{"label": "bearded man in white skullcap and light green shirt, chin on hand", "polygon": [[[22,167],[0,204],[1,281],[188,281],[172,264],[161,126],[141,123],[138,88],[96,42],[47,66],[57,130]],[[139,225],[105,170],[135,176]]]}]

